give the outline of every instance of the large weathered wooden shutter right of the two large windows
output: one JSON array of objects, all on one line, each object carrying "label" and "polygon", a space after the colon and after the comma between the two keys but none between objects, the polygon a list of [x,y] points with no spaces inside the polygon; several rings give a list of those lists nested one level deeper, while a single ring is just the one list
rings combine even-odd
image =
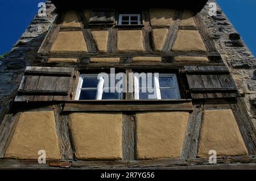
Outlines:
[{"label": "large weathered wooden shutter right of the two large windows", "polygon": [[193,99],[240,96],[226,66],[185,66],[185,71]]}]

